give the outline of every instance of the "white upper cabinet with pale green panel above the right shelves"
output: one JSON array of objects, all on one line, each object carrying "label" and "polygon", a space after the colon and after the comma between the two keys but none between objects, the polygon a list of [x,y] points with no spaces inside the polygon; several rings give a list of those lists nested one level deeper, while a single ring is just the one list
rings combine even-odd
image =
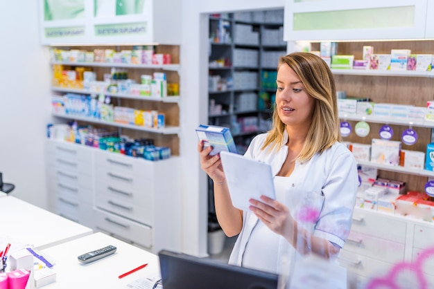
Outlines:
[{"label": "white upper cabinet with pale green panel above the right shelves", "polygon": [[[428,2],[286,0],[284,39],[338,41],[432,38],[433,28],[428,28],[431,22],[427,17]],[[432,3],[429,3],[428,8],[430,6]],[[425,34],[426,27],[430,35]]]}]

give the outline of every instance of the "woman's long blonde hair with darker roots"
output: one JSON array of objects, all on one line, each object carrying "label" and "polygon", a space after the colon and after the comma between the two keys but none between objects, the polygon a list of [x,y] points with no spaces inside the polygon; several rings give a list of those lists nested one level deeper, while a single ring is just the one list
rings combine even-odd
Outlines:
[{"label": "woman's long blonde hair with darker roots", "polygon": [[[295,160],[310,160],[315,153],[322,153],[341,140],[333,74],[326,62],[312,53],[290,53],[280,57],[277,71],[282,65],[288,65],[293,69],[300,77],[306,92],[315,98],[311,127],[302,151],[295,158]],[[261,149],[271,145],[270,150],[272,150],[279,145],[285,145],[283,143],[285,129],[286,124],[280,120],[276,104],[273,104],[272,129],[268,131],[266,142]]]}]

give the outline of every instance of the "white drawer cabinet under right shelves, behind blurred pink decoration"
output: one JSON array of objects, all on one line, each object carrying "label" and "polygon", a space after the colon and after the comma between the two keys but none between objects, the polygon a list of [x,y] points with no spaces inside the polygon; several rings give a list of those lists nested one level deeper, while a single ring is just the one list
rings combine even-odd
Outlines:
[{"label": "white drawer cabinet under right shelves, behind blurred pink decoration", "polygon": [[[374,277],[385,277],[390,270],[403,263],[415,264],[422,254],[433,252],[433,256],[424,257],[426,259],[421,262],[419,271],[419,277],[422,276],[433,286],[433,239],[433,223],[355,208],[351,232],[340,252],[339,262],[363,283]],[[401,273],[410,274],[410,270],[416,267],[411,268],[407,265]]]}]

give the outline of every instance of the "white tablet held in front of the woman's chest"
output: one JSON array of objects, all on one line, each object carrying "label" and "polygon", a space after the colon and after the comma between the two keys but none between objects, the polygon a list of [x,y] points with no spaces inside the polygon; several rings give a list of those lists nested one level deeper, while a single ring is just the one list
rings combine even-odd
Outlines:
[{"label": "white tablet held in front of the woman's chest", "polygon": [[220,152],[220,159],[234,207],[247,210],[249,199],[260,201],[262,195],[276,198],[269,164],[227,151]]}]

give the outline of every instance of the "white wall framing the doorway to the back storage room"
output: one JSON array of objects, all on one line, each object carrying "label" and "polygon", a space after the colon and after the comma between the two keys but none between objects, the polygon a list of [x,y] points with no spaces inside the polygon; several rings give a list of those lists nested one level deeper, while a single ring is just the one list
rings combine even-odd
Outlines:
[{"label": "white wall framing the doorway to the back storage room", "polygon": [[[207,254],[207,178],[200,169],[194,129],[208,122],[208,14],[284,8],[284,0],[182,0],[181,137],[183,250]],[[198,209],[196,209],[198,208]]]}]

